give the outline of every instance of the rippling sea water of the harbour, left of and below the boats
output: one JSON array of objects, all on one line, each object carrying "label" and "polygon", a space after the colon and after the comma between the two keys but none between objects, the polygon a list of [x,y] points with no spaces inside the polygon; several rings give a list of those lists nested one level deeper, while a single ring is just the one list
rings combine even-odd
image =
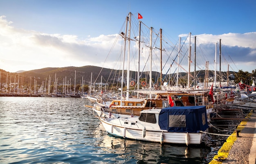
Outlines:
[{"label": "rippling sea water of the harbour, left of and below the boats", "polygon": [[220,147],[108,135],[82,98],[0,97],[1,164],[207,164]]}]

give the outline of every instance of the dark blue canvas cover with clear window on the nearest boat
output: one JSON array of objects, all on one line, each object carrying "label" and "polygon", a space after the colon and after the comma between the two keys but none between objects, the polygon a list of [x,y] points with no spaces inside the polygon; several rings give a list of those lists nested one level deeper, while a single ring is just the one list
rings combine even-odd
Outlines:
[{"label": "dark blue canvas cover with clear window on the nearest boat", "polygon": [[159,113],[159,126],[169,132],[198,133],[205,131],[207,123],[206,106],[167,107]]}]

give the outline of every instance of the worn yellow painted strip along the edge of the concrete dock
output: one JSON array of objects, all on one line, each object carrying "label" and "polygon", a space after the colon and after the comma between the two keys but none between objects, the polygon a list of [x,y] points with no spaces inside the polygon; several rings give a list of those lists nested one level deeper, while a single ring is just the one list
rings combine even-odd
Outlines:
[{"label": "worn yellow painted strip along the edge of the concrete dock", "polygon": [[[246,118],[251,117],[252,112],[253,111],[251,110],[250,113],[246,116]],[[247,124],[247,121],[241,121],[240,124],[238,125],[238,127],[236,128],[236,130],[240,130],[240,131],[243,130],[246,124]],[[227,140],[226,140],[227,142],[224,142],[224,144],[218,151],[218,154],[213,157],[213,160],[211,160],[211,162],[209,162],[209,164],[221,164],[222,163],[221,160],[225,160],[228,157],[229,151],[231,150],[236,139],[237,139],[236,132],[233,132],[227,138]]]}]

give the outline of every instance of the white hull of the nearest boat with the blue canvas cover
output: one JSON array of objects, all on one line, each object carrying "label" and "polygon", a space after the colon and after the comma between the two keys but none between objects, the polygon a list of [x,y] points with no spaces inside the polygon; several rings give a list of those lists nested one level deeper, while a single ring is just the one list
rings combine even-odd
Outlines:
[{"label": "white hull of the nearest boat with the blue canvas cover", "polygon": [[[143,137],[143,125],[136,124],[131,126],[121,127],[120,124],[111,124],[108,122],[108,118],[100,118],[105,130],[113,136],[124,137],[135,140],[144,140],[150,142],[162,142],[162,143],[173,143],[173,144],[186,144],[186,133],[167,132],[159,130],[150,130],[146,128],[146,135]],[[120,119],[119,119],[120,120]],[[119,121],[118,120],[118,121]],[[123,119],[124,122],[127,121]],[[122,125],[125,125],[121,122]],[[129,124],[130,125],[130,124]],[[162,138],[163,133],[163,138]],[[190,144],[201,144],[204,134],[202,133],[188,133],[190,138]]]}]

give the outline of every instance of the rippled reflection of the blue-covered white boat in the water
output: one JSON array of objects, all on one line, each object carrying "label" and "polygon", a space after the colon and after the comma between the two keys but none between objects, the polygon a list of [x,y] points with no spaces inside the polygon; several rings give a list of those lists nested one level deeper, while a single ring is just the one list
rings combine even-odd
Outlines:
[{"label": "rippled reflection of the blue-covered white boat in the water", "polygon": [[94,131],[99,146],[106,153],[121,154],[125,158],[137,160],[137,163],[183,163],[198,160],[202,163],[207,153],[211,151],[209,147],[185,147],[182,145],[144,142],[138,140],[128,140],[108,135],[103,127]]}]

